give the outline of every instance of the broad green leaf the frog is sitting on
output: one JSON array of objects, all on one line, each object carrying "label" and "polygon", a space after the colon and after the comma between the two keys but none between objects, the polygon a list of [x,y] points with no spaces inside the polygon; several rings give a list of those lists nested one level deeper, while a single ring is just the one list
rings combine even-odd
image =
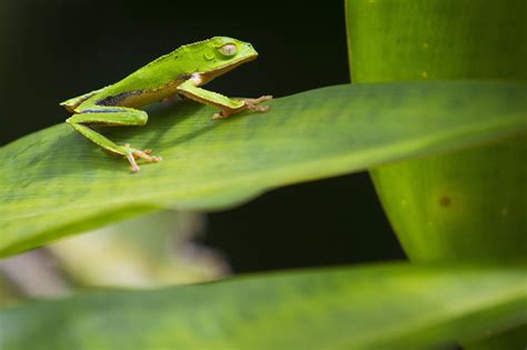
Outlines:
[{"label": "broad green leaf the frog is sitting on", "polygon": [[526,97],[527,86],[497,82],[337,86],[219,121],[185,101],[151,111],[143,128],[107,133],[163,157],[138,174],[59,124],[0,149],[0,256],[159,208],[226,208],[278,186],[524,133]]}]

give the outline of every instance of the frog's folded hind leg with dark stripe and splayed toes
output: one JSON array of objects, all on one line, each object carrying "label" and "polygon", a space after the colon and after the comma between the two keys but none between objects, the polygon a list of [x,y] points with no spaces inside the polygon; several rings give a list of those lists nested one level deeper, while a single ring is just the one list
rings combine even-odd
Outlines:
[{"label": "frog's folded hind leg with dark stripe and splayed toes", "polygon": [[136,162],[137,158],[150,162],[158,162],[161,160],[160,157],[151,156],[150,150],[133,149],[128,143],[119,146],[90,128],[90,126],[145,126],[148,120],[148,114],[145,111],[125,107],[96,106],[82,110],[76,110],[76,112],[77,113],[71,116],[67,122],[71,124],[74,130],[92,142],[99,144],[108,152],[126,157],[130,162],[133,172],[140,170]]}]

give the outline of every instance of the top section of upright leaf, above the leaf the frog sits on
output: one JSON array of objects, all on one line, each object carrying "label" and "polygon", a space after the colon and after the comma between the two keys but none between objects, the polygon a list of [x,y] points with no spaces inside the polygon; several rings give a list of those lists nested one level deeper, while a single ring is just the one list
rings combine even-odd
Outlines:
[{"label": "top section of upright leaf, above the leaf the frog sits on", "polygon": [[525,0],[346,0],[354,82],[526,81]]}]

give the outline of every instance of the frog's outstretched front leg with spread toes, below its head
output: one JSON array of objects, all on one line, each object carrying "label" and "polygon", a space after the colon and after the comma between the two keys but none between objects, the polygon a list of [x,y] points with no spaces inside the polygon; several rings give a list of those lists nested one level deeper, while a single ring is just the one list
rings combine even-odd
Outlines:
[{"label": "frog's outstretched front leg with spread toes, below its head", "polygon": [[267,111],[269,107],[258,104],[272,99],[272,96],[262,96],[258,99],[245,100],[230,99],[221,93],[199,88],[198,84],[200,82],[200,77],[193,76],[178,86],[178,92],[195,101],[221,109],[221,112],[212,116],[213,119],[227,118],[246,109],[259,112]]}]

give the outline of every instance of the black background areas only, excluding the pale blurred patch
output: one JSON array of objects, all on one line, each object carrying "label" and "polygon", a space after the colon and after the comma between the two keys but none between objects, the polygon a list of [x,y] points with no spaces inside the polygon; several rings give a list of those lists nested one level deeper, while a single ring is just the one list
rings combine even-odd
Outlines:
[{"label": "black background areas only, excluding the pale blurred patch", "polygon": [[[342,1],[2,0],[0,144],[62,122],[58,102],[213,36],[250,41],[260,56],[210,90],[282,97],[349,82]],[[211,213],[203,241],[236,272],[404,259],[367,173]]]}]

